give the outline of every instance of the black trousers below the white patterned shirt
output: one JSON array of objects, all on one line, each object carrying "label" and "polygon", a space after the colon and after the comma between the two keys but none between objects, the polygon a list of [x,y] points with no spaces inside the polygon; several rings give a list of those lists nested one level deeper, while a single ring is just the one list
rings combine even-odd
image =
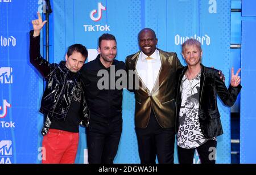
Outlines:
[{"label": "black trousers below the white patterned shirt", "polygon": [[185,149],[177,146],[179,163],[193,164],[195,150],[199,154],[201,164],[215,164],[216,161],[216,140],[208,140],[201,146],[192,149]]}]

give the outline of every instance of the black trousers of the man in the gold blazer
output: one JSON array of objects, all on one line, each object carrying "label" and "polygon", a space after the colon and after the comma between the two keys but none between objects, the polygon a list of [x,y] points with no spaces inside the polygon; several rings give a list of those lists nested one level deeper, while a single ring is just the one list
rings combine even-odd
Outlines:
[{"label": "black trousers of the man in the gold blazer", "polygon": [[138,139],[139,158],[142,164],[155,163],[156,155],[160,164],[174,163],[174,127],[162,128],[151,110],[150,121],[146,129],[136,127],[135,131]]}]

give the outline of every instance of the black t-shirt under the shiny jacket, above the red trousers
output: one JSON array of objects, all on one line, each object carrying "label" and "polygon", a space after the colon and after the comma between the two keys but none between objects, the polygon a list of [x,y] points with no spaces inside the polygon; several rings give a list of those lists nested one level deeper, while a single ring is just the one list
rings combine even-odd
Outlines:
[{"label": "black t-shirt under the shiny jacket, above the red trousers", "polygon": [[53,117],[49,128],[79,133],[82,97],[83,95],[80,86],[76,86],[65,120],[63,121]]}]

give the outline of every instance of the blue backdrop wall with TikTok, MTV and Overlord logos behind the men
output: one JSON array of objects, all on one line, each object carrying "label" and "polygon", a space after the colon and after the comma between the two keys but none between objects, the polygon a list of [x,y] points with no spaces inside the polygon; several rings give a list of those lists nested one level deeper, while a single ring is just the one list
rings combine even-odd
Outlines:
[{"label": "blue backdrop wall with TikTok, MTV and Overlord logos behind the men", "polygon": [[[0,0],[0,163],[40,163],[43,157],[43,116],[39,113],[43,80],[28,61],[28,32],[36,11],[43,10],[42,3]],[[138,32],[150,27],[158,37],[158,48],[177,52],[183,65],[181,44],[189,37],[199,40],[203,64],[222,70],[229,84],[230,0],[53,0],[51,4],[50,62],[63,60],[67,47],[74,43],[89,49],[88,61],[96,58],[102,33],[116,37],[116,59],[125,61],[139,50]],[[134,95],[127,91],[123,95],[123,131],[114,163],[139,163]],[[230,163],[230,109],[220,101],[218,107],[224,135],[217,138],[217,163]],[[194,162],[200,162],[198,155]],[[83,127],[76,163],[87,163]]]}]

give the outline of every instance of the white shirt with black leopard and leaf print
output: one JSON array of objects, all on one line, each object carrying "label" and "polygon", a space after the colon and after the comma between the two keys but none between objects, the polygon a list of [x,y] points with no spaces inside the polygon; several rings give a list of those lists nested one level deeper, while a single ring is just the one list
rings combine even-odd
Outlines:
[{"label": "white shirt with black leopard and leaf print", "polygon": [[196,148],[209,140],[204,137],[199,123],[200,78],[201,72],[192,80],[188,80],[185,75],[181,80],[181,106],[177,133],[177,145],[181,148]]}]

